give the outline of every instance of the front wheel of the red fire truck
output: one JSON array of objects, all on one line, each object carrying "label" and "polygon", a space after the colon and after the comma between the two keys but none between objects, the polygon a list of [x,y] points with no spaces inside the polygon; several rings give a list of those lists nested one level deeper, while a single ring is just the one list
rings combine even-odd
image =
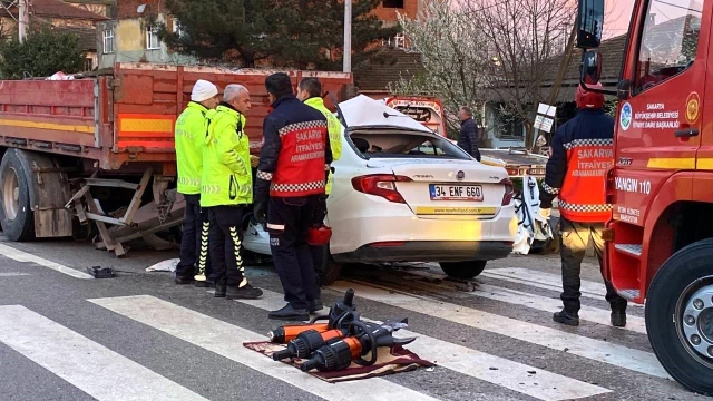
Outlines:
[{"label": "front wheel of the red fire truck", "polygon": [[[671,256],[646,295],[654,353],[683,387],[713,395],[713,238]],[[673,317],[673,319],[672,319]]]}]

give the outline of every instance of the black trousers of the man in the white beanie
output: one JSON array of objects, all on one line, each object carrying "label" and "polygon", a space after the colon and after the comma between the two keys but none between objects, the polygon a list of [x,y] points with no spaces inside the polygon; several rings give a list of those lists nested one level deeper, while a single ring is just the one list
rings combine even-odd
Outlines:
[{"label": "black trousers of the man in the white beanie", "polygon": [[208,257],[208,213],[201,208],[201,195],[184,195],[186,209],[180,239],[180,262],[176,265],[177,278],[193,278],[198,271],[205,270],[206,276],[211,274],[211,261]]}]

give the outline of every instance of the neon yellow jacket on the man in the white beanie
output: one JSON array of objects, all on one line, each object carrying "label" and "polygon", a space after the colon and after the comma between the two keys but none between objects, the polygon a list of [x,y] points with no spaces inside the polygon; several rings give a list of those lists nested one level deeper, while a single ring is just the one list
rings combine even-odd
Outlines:
[{"label": "neon yellow jacket on the man in the white beanie", "polygon": [[175,129],[178,192],[184,195],[201,193],[203,174],[203,147],[207,128],[208,109],[195,101],[178,116]]}]

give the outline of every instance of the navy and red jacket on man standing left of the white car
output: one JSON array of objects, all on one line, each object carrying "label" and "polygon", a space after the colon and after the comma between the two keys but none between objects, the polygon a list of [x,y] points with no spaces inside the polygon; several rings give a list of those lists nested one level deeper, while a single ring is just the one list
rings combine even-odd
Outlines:
[{"label": "navy and red jacket on man standing left of the white car", "polygon": [[[285,197],[311,195],[320,190],[323,194],[326,172],[332,163],[326,118],[294,95],[277,99],[272,107],[272,113],[263,123],[263,147],[255,175],[255,203],[266,202],[271,194]],[[313,134],[321,136],[314,144],[310,143],[315,141]],[[297,146],[299,138],[306,138],[306,146]],[[313,151],[320,148],[324,149],[323,158],[320,150]]]}]

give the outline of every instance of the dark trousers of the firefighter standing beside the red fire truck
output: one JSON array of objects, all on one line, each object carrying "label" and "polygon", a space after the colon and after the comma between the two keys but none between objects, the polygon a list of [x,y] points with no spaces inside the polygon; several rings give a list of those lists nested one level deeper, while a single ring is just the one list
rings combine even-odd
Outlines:
[{"label": "dark trousers of the firefighter standing beside the red fire truck", "polygon": [[[587,251],[589,241],[594,242],[594,252],[599,260],[599,270],[603,271],[602,255],[604,252],[604,239],[602,239],[602,231],[604,223],[577,223],[566,218],[559,219],[560,224],[560,256],[561,256],[561,302],[565,311],[577,314],[579,312],[579,287],[582,281],[579,274],[582,272],[582,261]],[[612,283],[604,277],[606,286],[606,301],[612,306],[612,311],[626,311],[626,300],[619,296],[614,290]]]}]

